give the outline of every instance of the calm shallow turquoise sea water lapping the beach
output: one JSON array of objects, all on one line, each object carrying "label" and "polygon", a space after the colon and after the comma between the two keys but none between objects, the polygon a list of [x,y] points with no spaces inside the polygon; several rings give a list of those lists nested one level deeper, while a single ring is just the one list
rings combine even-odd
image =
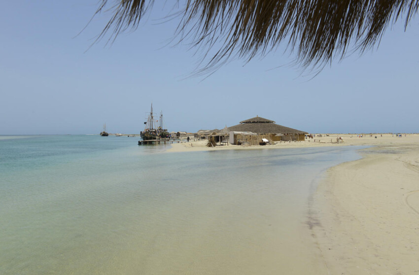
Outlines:
[{"label": "calm shallow turquoise sea water lapping the beach", "polygon": [[298,274],[310,194],[360,147],[166,153],[0,137],[0,274]]}]

